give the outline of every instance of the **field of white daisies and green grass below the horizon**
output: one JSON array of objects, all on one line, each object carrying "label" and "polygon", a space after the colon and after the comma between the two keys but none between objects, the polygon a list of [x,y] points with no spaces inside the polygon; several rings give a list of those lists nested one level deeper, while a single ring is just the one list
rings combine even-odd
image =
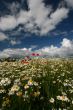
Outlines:
[{"label": "field of white daisies and green grass below the horizon", "polygon": [[73,60],[0,62],[0,110],[73,110]]}]

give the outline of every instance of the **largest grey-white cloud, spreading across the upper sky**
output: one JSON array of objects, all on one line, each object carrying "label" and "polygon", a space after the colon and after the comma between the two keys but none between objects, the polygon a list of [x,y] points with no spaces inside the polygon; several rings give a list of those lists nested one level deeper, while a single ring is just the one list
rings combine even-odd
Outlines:
[{"label": "largest grey-white cloud, spreading across the upper sky", "polygon": [[[15,4],[12,5],[15,8]],[[18,5],[16,5],[16,10]],[[28,0],[29,10],[20,10],[16,15],[5,15],[0,18],[0,30],[12,30],[19,24],[24,25],[26,32],[44,35],[55,29],[56,26],[68,17],[69,9],[58,7],[55,11],[52,6],[45,6],[43,0]]]}]

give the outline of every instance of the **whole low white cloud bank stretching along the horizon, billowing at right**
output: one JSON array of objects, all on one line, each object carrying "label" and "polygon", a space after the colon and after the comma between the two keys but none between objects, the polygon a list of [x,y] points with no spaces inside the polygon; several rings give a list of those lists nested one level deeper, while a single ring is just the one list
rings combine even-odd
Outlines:
[{"label": "whole low white cloud bank stretching along the horizon, billowing at right", "polygon": [[[31,55],[33,48],[22,48],[22,49],[4,49],[0,52],[0,58],[3,57],[19,57]],[[73,41],[64,38],[61,42],[61,46],[57,47],[54,45],[34,50],[35,53],[39,53],[41,56],[48,57],[69,57],[73,56]]]}]

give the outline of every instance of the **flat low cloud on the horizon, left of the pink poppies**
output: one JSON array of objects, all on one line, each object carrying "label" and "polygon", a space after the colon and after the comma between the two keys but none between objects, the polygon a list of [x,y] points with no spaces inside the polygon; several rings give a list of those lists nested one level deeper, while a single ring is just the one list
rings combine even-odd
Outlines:
[{"label": "flat low cloud on the horizon, left of the pink poppies", "polygon": [[4,49],[3,51],[0,51],[0,58],[7,58],[7,57],[20,57],[20,56],[26,56],[31,53],[31,48],[22,48],[22,49]]}]

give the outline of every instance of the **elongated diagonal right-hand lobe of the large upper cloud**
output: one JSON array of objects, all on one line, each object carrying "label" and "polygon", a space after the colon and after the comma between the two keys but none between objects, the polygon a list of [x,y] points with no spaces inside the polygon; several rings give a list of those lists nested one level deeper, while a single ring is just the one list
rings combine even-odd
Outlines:
[{"label": "elongated diagonal right-hand lobe of the large upper cloud", "polygon": [[56,26],[68,16],[69,10],[66,8],[58,8],[55,12],[51,13],[50,18],[47,17],[42,26],[41,33],[48,33],[56,28]]}]

